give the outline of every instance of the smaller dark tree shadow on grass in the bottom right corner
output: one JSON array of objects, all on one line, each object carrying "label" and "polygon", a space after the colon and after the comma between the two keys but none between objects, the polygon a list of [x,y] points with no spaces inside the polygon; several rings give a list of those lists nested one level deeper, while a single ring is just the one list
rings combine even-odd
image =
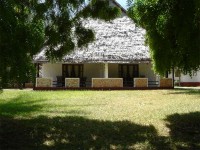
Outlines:
[{"label": "smaller dark tree shadow on grass in the bottom right corner", "polygon": [[170,115],[166,121],[178,150],[200,149],[200,112]]}]

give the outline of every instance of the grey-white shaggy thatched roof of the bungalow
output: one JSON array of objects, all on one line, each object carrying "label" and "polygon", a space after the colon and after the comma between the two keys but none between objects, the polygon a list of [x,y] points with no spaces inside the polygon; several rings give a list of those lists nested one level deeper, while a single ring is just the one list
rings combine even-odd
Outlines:
[{"label": "grey-white shaggy thatched roof of the bungalow", "polygon": [[[145,46],[145,30],[135,26],[124,16],[110,22],[84,20],[86,28],[93,29],[96,40],[88,47],[77,48],[63,57],[67,63],[134,63],[149,62],[149,48]],[[35,62],[47,61],[42,50],[34,58]]]}]

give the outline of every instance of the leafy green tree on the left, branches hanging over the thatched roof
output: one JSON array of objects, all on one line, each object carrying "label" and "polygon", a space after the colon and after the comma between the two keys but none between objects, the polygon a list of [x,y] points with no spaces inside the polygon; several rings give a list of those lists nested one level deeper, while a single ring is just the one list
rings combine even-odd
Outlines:
[{"label": "leafy green tree on the left, branches hanging over the thatched roof", "polygon": [[87,17],[111,20],[120,9],[108,0],[0,0],[0,77],[19,85],[34,78],[33,56],[45,47],[49,60],[86,46],[94,40],[92,30],[85,29]]}]

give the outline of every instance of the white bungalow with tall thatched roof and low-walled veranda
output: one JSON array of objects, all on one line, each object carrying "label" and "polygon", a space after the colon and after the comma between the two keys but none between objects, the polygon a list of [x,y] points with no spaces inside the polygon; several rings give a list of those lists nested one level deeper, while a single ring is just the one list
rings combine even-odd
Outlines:
[{"label": "white bungalow with tall thatched roof and low-walled veranda", "polygon": [[[45,49],[34,57],[38,68],[36,88],[40,87],[155,87],[161,85],[152,70],[149,48],[145,46],[145,30],[137,27],[126,11],[110,22],[88,18],[86,28],[93,29],[96,40],[77,48],[51,63]],[[164,85],[165,84],[165,85]],[[163,86],[172,87],[172,81]]]}]

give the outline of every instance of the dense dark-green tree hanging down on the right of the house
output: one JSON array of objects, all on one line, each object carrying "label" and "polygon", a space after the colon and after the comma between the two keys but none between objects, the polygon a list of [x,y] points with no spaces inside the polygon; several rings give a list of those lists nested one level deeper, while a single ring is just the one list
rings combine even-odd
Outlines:
[{"label": "dense dark-green tree hanging down on the right of the house", "polygon": [[128,4],[129,16],[146,30],[156,72],[200,68],[199,0],[128,0]]}]

